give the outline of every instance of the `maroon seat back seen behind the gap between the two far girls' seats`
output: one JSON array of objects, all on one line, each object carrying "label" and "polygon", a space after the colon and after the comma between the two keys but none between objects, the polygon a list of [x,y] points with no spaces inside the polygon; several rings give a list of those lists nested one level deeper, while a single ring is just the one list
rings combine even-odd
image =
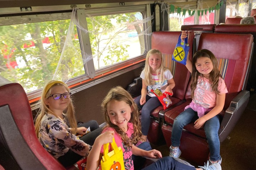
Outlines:
[{"label": "maroon seat back seen behind the gap between the two far girls' seats", "polygon": [[196,38],[196,45],[195,45],[195,51],[196,51],[201,33],[213,33],[215,26],[216,24],[182,25],[181,30],[194,31],[195,38]]}]

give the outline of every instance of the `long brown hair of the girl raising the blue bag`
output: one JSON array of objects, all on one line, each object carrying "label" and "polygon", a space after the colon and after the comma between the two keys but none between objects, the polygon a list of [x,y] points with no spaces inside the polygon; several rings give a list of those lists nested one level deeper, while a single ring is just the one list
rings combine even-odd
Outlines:
[{"label": "long brown hair of the girl raising the blue bag", "polygon": [[197,51],[194,54],[192,59],[192,76],[191,76],[192,83],[190,86],[192,90],[191,98],[194,97],[194,91],[196,90],[198,77],[199,76],[203,77],[203,74],[199,73],[196,69],[196,61],[200,57],[207,57],[207,58],[210,58],[210,60],[212,61],[213,70],[210,72],[209,83],[211,84],[212,90],[217,94],[219,93],[219,90],[218,90],[219,78],[222,78],[222,75],[220,74],[218,69],[217,58],[214,56],[214,54],[210,50],[202,49]]}]

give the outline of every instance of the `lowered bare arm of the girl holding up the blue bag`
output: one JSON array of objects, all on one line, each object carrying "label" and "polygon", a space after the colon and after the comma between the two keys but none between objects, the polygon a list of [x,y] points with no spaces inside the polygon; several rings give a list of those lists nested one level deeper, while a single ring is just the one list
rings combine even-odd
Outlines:
[{"label": "lowered bare arm of the girl holding up the blue bag", "polygon": [[197,119],[194,122],[194,128],[200,129],[207,120],[209,120],[210,118],[213,118],[214,116],[219,114],[224,107],[225,97],[226,97],[225,93],[216,94],[216,106],[209,113],[207,113],[203,117]]}]

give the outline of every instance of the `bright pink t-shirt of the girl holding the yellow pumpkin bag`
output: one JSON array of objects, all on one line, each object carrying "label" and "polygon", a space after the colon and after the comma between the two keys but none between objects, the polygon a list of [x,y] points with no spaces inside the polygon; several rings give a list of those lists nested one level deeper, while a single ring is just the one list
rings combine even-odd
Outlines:
[{"label": "bright pink t-shirt of the girl holding the yellow pumpkin bag", "polygon": [[[106,128],[102,131],[102,133],[104,133],[108,130],[114,130],[114,129]],[[127,130],[126,134],[129,138],[132,138],[132,136],[133,136],[133,124],[132,123],[128,123],[128,130]],[[117,147],[121,146],[121,148],[123,150],[124,168],[126,170],[134,170],[133,160],[132,160],[132,148],[129,149],[127,146],[125,146],[123,144],[121,137],[117,133],[114,134],[114,139],[117,144]],[[109,145],[109,151],[111,151],[111,145]],[[101,153],[103,154],[103,145],[101,147]]]}]

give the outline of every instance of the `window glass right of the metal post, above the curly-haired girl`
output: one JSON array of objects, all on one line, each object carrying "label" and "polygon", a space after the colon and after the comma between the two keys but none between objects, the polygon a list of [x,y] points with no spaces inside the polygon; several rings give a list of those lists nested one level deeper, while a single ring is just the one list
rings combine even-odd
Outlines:
[{"label": "window glass right of the metal post, above the curly-haired girl", "polygon": [[87,17],[95,70],[145,52],[140,12]]}]

